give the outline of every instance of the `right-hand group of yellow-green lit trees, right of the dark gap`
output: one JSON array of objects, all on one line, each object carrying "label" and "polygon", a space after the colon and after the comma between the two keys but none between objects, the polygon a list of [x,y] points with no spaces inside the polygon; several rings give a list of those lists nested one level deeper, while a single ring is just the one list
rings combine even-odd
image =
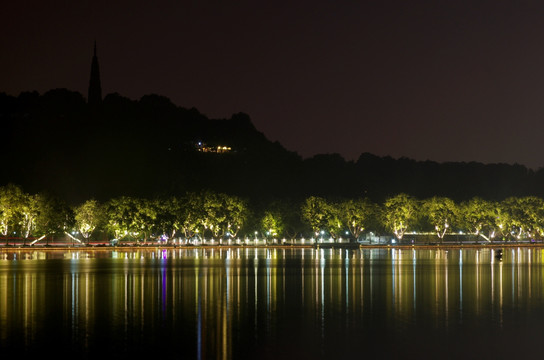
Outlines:
[{"label": "right-hand group of yellow-green lit trees, right of the dark gap", "polygon": [[312,196],[300,210],[312,236],[326,235],[332,239],[360,239],[365,231],[392,234],[398,240],[407,232],[434,234],[440,240],[453,233],[487,241],[544,237],[544,200],[534,196],[503,201],[475,197],[456,203],[446,197],[419,200],[399,194],[383,204],[368,199],[330,201]]}]

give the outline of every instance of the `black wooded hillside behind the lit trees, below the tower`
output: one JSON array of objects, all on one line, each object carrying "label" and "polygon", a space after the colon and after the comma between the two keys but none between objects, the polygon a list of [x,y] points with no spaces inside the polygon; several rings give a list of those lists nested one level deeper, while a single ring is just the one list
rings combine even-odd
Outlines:
[{"label": "black wooded hillside behind the lit trees, below the tower", "polygon": [[[158,95],[134,101],[109,94],[91,108],[81,94],[66,89],[17,97],[0,93],[0,123],[0,185],[48,191],[72,204],[201,190],[241,196],[263,208],[278,199],[300,202],[309,196],[374,202],[399,193],[458,202],[476,196],[544,197],[543,169],[368,153],[357,161],[338,154],[302,159],[267,140],[246,114],[209,119]],[[198,151],[217,146],[231,150]]]}]

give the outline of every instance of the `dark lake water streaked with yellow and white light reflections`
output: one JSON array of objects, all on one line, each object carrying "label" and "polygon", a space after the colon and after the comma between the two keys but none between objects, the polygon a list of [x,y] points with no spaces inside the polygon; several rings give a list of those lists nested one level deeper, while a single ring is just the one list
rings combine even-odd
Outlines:
[{"label": "dark lake water streaked with yellow and white light reflections", "polygon": [[536,246],[0,250],[19,357],[529,358],[543,330]]}]

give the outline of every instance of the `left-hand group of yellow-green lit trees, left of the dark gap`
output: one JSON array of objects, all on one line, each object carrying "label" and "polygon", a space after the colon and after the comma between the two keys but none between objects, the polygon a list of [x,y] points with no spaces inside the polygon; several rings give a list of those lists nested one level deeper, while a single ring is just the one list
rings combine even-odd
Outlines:
[{"label": "left-hand group of yellow-green lit trees, left of the dark gap", "polygon": [[166,200],[126,196],[103,204],[88,200],[70,208],[54,197],[27,194],[18,186],[0,187],[0,234],[6,241],[64,234],[88,242],[97,232],[143,242],[158,237],[235,238],[247,218],[246,201],[213,192]]}]

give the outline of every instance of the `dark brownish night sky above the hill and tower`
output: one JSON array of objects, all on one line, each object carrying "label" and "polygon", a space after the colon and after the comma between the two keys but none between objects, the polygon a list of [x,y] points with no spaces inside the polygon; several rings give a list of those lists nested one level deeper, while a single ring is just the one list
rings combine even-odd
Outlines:
[{"label": "dark brownish night sky above the hill and tower", "polygon": [[304,157],[544,165],[543,1],[0,5],[0,91],[157,93]]}]

